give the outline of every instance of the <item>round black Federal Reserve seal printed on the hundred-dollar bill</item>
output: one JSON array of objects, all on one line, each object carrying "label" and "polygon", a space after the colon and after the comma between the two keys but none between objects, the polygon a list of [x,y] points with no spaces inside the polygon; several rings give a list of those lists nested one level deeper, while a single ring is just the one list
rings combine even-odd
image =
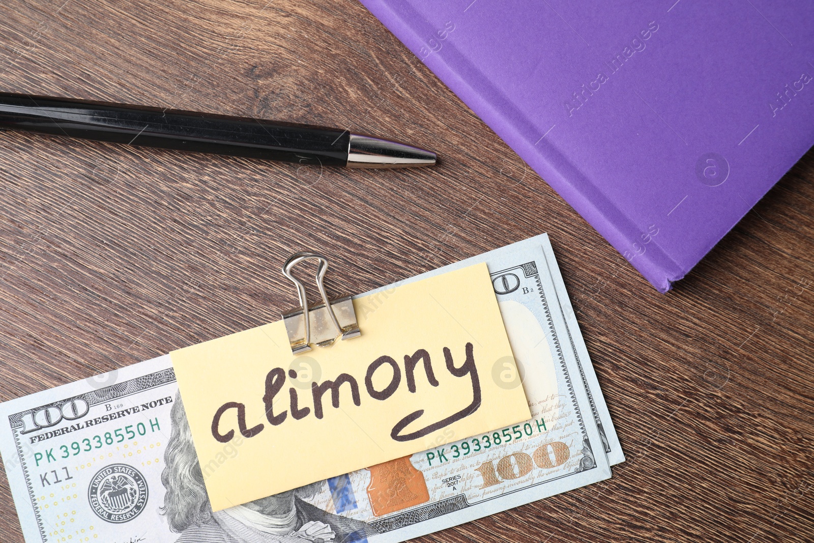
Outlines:
[{"label": "round black Federal Reserve seal printed on the hundred-dollar bill", "polygon": [[126,523],[147,506],[147,480],[134,467],[111,464],[90,480],[88,501],[100,519]]}]

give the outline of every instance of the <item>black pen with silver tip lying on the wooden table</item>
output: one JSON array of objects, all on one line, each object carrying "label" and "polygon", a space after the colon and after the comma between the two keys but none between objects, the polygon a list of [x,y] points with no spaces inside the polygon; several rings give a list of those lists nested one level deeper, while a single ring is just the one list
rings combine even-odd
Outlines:
[{"label": "black pen with silver tip lying on the wooden table", "polygon": [[0,93],[0,129],[322,166],[435,164],[431,151],[348,130],[29,94]]}]

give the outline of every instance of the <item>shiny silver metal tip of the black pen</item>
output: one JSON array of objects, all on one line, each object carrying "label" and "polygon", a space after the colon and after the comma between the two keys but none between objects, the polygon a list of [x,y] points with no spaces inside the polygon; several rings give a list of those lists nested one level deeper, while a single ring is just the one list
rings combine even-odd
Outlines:
[{"label": "shiny silver metal tip of the black pen", "polygon": [[432,151],[387,139],[351,134],[348,168],[417,168],[435,165]]}]

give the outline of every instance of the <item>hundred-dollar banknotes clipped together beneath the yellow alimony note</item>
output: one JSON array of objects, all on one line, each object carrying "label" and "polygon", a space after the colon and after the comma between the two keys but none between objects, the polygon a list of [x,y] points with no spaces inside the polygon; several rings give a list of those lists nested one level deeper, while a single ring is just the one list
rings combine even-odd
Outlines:
[{"label": "hundred-dollar banknotes clipped together beneath the yellow alimony note", "polygon": [[[523,387],[530,420],[478,436],[449,431],[423,453],[212,512],[204,481],[239,458],[239,444],[199,465],[165,355],[0,404],[0,453],[25,541],[396,543],[609,478],[624,453],[547,235],[405,282],[480,262],[518,368],[496,361],[481,379]],[[306,356],[291,364],[301,386],[319,371]]]}]

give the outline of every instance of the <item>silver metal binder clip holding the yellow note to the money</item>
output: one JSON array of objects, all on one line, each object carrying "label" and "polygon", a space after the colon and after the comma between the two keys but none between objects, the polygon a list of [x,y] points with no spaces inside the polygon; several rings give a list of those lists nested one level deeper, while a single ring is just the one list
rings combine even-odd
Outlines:
[{"label": "silver metal binder clip holding the yellow note to the money", "polygon": [[[317,288],[322,296],[322,304],[309,309],[308,299],[305,296],[305,287],[291,274],[291,268],[302,261],[315,260],[317,265]],[[300,296],[300,307],[283,313],[282,322],[286,325],[288,341],[291,343],[291,352],[305,353],[311,350],[311,344],[328,347],[339,336],[342,339],[351,339],[361,335],[357,324],[356,311],[353,310],[351,296],[344,296],[338,300],[329,301],[322,284],[322,278],[328,270],[328,259],[313,252],[298,252],[291,256],[282,265],[282,274],[291,279],[297,287]]]}]

